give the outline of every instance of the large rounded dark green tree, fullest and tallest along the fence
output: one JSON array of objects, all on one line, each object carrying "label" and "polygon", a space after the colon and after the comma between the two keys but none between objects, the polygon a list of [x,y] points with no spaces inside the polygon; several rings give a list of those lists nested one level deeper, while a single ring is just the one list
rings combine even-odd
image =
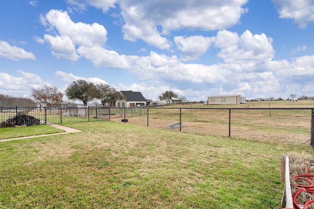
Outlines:
[{"label": "large rounded dark green tree, fullest and tallest along the fence", "polygon": [[79,79],[66,88],[65,95],[69,100],[78,99],[86,106],[87,102],[97,98],[97,90],[94,83]]}]

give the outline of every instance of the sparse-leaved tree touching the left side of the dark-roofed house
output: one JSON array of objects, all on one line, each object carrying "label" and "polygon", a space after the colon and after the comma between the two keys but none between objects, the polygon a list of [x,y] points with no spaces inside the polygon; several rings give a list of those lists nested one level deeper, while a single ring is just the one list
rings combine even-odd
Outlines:
[{"label": "sparse-leaved tree touching the left side of the dark-roofed house", "polygon": [[103,106],[105,106],[105,103],[108,101],[108,99],[119,99],[122,96],[122,94],[117,92],[115,88],[110,87],[108,84],[97,84],[96,90],[96,98],[100,100]]}]

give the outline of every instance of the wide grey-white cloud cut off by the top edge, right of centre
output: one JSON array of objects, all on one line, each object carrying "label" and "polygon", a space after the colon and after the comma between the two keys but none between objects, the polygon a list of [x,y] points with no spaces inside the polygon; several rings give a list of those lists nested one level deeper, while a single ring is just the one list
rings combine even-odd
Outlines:
[{"label": "wide grey-white cloud cut off by the top edge, right of centre", "polygon": [[[247,11],[245,8],[242,8],[247,0],[183,1],[172,1],[170,3],[164,0],[165,7],[161,5],[153,13],[155,16],[152,16],[152,19],[160,21],[163,33],[182,28],[205,31],[225,29],[238,23],[241,15]],[[167,7],[166,5],[169,3],[172,5]],[[153,7],[154,4],[149,6]],[[167,15],[158,16],[158,13]],[[169,15],[171,13],[173,15]],[[149,13],[147,13],[147,16],[149,16]]]}]

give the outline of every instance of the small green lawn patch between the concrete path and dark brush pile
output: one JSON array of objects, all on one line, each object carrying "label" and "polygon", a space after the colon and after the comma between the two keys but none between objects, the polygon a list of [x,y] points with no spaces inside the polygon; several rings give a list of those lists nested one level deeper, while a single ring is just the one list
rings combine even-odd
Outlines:
[{"label": "small green lawn patch between the concrete path and dark brush pile", "polygon": [[16,128],[0,128],[0,139],[36,136],[42,134],[54,134],[64,132],[50,125],[35,125]]}]

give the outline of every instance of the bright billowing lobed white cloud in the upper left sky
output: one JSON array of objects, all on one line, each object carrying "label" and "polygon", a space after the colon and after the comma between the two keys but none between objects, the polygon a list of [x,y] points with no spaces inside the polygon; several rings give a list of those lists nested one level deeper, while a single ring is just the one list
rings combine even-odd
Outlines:
[{"label": "bright billowing lobed white cloud in the upper left sky", "polygon": [[52,54],[73,61],[78,60],[76,46],[103,46],[107,41],[107,31],[98,23],[74,23],[67,12],[50,10],[41,16],[41,22],[48,27],[48,31],[57,35],[44,35],[38,42],[47,42],[52,48]]}]

